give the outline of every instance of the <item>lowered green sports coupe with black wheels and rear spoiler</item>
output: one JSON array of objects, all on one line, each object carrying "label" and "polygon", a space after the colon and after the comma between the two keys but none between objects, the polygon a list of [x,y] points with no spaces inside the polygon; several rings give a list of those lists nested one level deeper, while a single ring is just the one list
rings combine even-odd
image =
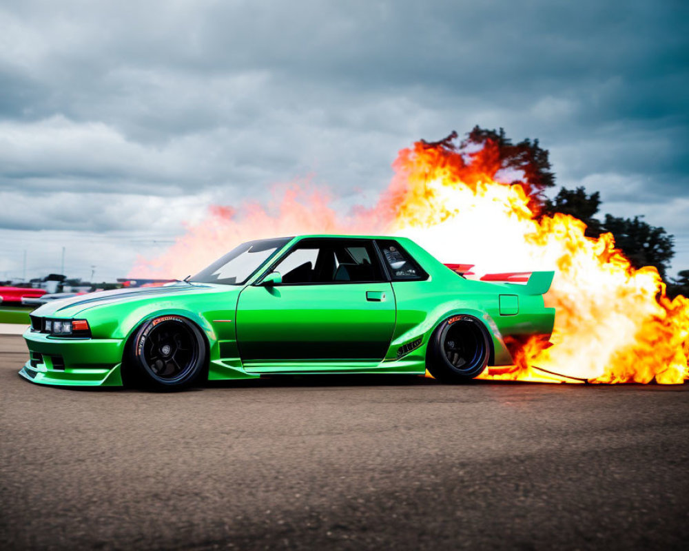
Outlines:
[{"label": "lowered green sports coupe with black wheels and rear spoiler", "polygon": [[[19,372],[41,384],[181,388],[269,374],[408,373],[462,382],[548,338],[553,272],[463,277],[407,238],[239,245],[193,277],[45,304]],[[502,281],[500,281],[502,279]],[[516,278],[520,280],[520,278]]]}]

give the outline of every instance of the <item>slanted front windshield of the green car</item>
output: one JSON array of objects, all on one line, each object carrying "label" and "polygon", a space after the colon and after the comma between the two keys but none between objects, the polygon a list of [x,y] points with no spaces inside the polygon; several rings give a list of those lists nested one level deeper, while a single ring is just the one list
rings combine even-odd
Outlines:
[{"label": "slanted front windshield of the green car", "polygon": [[291,238],[247,241],[229,251],[209,267],[201,270],[189,281],[241,285]]}]

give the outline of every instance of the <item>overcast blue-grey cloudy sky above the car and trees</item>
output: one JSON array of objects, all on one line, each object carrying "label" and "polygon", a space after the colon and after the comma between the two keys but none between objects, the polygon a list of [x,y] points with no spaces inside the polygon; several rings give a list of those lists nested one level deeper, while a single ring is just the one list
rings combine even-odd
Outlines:
[{"label": "overcast blue-grey cloudy sky above the car and trees", "polygon": [[4,0],[0,278],[62,247],[69,275],[123,276],[295,178],[373,198],[399,149],[476,124],[539,138],[686,269],[688,67],[683,0]]}]

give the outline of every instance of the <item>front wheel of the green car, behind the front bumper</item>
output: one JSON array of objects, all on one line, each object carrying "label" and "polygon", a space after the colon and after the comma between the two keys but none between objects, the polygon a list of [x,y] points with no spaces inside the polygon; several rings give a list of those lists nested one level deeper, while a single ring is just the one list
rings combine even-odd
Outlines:
[{"label": "front wheel of the green car, behind the front bumper", "polygon": [[136,380],[157,390],[194,384],[206,365],[206,343],[198,326],[179,315],[148,320],[136,331],[130,357]]}]

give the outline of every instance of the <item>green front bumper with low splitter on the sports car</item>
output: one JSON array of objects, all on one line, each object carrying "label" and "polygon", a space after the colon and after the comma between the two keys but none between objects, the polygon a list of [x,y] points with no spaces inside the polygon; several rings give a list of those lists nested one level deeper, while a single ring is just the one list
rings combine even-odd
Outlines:
[{"label": "green front bumper with low splitter on the sports car", "polygon": [[23,337],[30,359],[19,375],[31,382],[64,386],[122,386],[123,340],[51,337],[30,329]]}]

